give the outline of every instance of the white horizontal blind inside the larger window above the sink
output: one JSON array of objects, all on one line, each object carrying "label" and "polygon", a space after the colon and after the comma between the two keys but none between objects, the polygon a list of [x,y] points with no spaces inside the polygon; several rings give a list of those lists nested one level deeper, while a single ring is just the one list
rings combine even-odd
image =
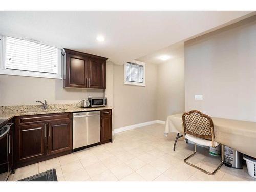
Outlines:
[{"label": "white horizontal blind inside the larger window above the sink", "polygon": [[5,68],[57,74],[58,49],[6,37]]}]

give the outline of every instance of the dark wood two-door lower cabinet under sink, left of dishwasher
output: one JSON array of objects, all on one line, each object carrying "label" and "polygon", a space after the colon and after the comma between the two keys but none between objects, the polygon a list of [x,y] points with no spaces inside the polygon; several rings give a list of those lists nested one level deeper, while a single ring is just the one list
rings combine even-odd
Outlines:
[{"label": "dark wood two-door lower cabinet under sink, left of dishwasher", "polygon": [[72,153],[72,113],[15,119],[15,167]]}]

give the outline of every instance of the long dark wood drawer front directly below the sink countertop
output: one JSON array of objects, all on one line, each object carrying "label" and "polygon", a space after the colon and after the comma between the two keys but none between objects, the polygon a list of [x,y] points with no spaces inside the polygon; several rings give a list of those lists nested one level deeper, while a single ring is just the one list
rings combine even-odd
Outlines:
[{"label": "long dark wood drawer front directly below the sink countertop", "polygon": [[16,117],[16,124],[27,124],[43,121],[54,121],[59,119],[72,119],[71,113],[55,113],[55,114],[44,114],[44,115],[26,115]]}]

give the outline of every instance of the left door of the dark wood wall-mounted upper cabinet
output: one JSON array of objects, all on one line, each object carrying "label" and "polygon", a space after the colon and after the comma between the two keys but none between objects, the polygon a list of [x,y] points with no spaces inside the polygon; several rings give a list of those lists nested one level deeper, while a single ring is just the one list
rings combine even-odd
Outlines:
[{"label": "left door of the dark wood wall-mounted upper cabinet", "polygon": [[65,87],[87,87],[88,59],[79,55],[66,55]]}]

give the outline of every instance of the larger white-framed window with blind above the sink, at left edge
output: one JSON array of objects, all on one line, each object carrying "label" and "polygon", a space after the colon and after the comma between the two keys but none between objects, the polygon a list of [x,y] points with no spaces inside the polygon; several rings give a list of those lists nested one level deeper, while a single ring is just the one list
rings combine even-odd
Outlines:
[{"label": "larger white-framed window with blind above the sink, at left edge", "polygon": [[61,50],[0,35],[0,74],[61,79]]}]

